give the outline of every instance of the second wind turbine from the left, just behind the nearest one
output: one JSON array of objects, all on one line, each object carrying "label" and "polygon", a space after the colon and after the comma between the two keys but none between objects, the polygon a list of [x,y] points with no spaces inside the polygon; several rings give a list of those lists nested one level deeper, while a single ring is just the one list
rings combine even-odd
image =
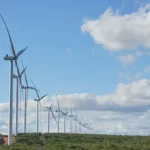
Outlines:
[{"label": "second wind turbine from the left, just behind the nearest one", "polygon": [[16,74],[13,74],[13,78],[15,78],[16,79],[16,111],[15,111],[15,113],[16,113],[16,120],[15,120],[15,122],[16,122],[16,126],[15,126],[15,135],[17,135],[18,134],[18,88],[19,88],[19,78],[21,78],[22,77],[22,75],[23,75],[23,73],[25,72],[25,70],[26,70],[26,68],[24,68],[23,70],[22,70],[22,72],[20,73],[20,75],[18,76],[18,75],[16,75]]}]

